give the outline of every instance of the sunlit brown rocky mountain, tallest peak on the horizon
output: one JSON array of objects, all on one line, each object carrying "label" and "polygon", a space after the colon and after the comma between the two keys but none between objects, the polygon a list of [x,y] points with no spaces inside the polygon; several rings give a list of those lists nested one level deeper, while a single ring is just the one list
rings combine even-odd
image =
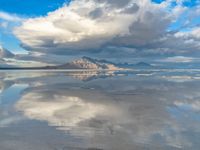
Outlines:
[{"label": "sunlit brown rocky mountain, tallest peak on the horizon", "polygon": [[64,65],[57,66],[56,69],[94,69],[94,70],[119,70],[122,69],[104,60],[82,57]]}]

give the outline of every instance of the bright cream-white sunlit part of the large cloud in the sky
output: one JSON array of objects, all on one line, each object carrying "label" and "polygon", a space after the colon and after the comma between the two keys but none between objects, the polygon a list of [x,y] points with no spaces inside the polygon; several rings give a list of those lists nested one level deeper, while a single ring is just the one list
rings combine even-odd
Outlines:
[{"label": "bright cream-white sunlit part of the large cloud in the sky", "polygon": [[[15,30],[22,43],[32,48],[93,49],[111,40],[113,36],[128,34],[132,15],[119,9],[106,10],[105,4],[93,1],[75,1],[47,17],[26,20]],[[92,19],[91,12],[104,14]]]}]

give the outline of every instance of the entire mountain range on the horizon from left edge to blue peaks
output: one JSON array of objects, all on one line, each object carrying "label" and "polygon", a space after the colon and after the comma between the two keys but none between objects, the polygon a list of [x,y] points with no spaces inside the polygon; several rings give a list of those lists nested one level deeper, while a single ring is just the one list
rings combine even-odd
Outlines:
[{"label": "entire mountain range on the horizon from left edge to blue peaks", "polygon": [[139,62],[137,64],[117,64],[107,60],[82,57],[62,65],[42,66],[42,67],[19,67],[8,65],[6,59],[16,59],[15,54],[0,46],[0,69],[88,69],[88,70],[124,70],[131,68],[151,68],[150,64]]}]

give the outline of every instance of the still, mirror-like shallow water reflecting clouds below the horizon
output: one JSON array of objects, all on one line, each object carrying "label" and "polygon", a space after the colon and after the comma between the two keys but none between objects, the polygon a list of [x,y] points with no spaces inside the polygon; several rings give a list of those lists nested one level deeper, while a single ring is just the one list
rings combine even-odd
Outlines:
[{"label": "still, mirror-like shallow water reflecting clouds below the horizon", "polygon": [[0,150],[199,150],[200,70],[0,79]]}]

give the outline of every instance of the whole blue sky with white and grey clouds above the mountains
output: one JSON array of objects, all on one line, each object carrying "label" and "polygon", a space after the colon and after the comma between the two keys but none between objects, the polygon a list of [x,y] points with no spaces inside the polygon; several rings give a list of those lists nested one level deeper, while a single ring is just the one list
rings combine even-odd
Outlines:
[{"label": "whole blue sky with white and grey clouds above the mountains", "polygon": [[1,0],[0,46],[47,64],[197,63],[200,0]]}]

